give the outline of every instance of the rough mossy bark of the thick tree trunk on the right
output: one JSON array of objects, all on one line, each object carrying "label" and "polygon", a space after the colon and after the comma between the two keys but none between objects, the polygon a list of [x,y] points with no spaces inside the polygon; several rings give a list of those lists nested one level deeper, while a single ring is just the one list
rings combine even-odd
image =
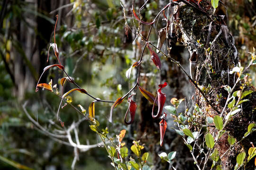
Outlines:
[{"label": "rough mossy bark of the thick tree trunk on the right", "polygon": [[[209,13],[209,15],[180,3],[180,17],[177,25],[182,34],[181,42],[185,44],[190,53],[197,51],[197,85],[201,89],[203,87],[209,88],[207,91],[204,91],[204,93],[210,103],[206,102],[198,90],[196,91],[196,103],[203,111],[203,115],[198,121],[201,124],[205,124],[205,118],[218,115],[216,110],[221,112],[224,108],[228,92],[224,90],[223,86],[229,85],[232,87],[235,84],[238,76],[236,74],[229,74],[229,70],[237,65],[238,56],[236,48],[232,42],[232,35],[228,33],[228,37],[226,38],[224,31],[219,34],[222,24],[217,15],[210,15],[213,14],[212,8],[210,8],[210,1],[202,1],[201,6],[204,9],[208,9],[207,13]],[[208,27],[210,23],[212,29],[209,36],[210,42],[212,43],[207,44],[207,37],[209,34]],[[206,46],[210,47],[209,51],[207,51],[208,47]],[[209,53],[211,54],[209,55]],[[243,84],[244,81],[240,81],[234,91],[239,90],[240,86],[243,86]],[[255,88],[248,83],[245,84],[245,89],[255,91]],[[217,94],[219,95],[220,93],[222,94],[222,97],[219,99],[219,102],[217,102]],[[239,141],[247,132],[247,126],[256,121],[256,92],[248,95],[247,99],[249,99],[249,101],[241,104],[241,111],[232,117],[231,121],[225,127],[226,134],[221,136],[219,142],[215,145],[220,156],[229,149],[229,143],[227,141],[228,134],[234,136],[236,141]],[[214,106],[216,110],[209,104]],[[225,110],[224,114],[227,114],[228,112],[229,108]],[[191,126],[191,128],[195,127]],[[209,127],[205,132],[208,131],[213,134],[216,130],[215,127]],[[236,156],[241,152],[247,153],[249,147],[252,146],[250,142],[256,144],[255,136],[256,133],[247,136],[245,140],[236,144],[222,157],[221,165],[224,170],[234,169],[236,165]],[[245,167],[247,170],[254,170],[254,162],[249,161]]]}]

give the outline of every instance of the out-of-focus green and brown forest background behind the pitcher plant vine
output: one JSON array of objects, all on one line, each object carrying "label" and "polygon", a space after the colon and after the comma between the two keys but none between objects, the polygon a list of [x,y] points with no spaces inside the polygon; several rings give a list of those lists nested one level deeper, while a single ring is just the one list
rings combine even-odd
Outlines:
[{"label": "out-of-focus green and brown forest background behind the pitcher plant vine", "polygon": [[[128,34],[125,33],[125,20],[120,2],[126,9],[126,19],[132,28]],[[247,52],[252,51],[253,46],[256,46],[256,1],[224,0],[224,2],[228,7],[229,30],[235,37],[241,63],[245,65],[250,60]],[[82,115],[72,107],[66,106],[60,111],[60,116],[65,122],[65,127],[61,127],[56,119],[60,102],[58,95],[41,89],[35,93],[35,85],[43,68],[57,63],[52,50],[50,50],[49,62],[46,63],[49,43],[54,42],[55,15],[59,15],[56,44],[65,70],[74,77],[77,84],[93,96],[104,100],[116,100],[127,93],[134,82],[136,69],[133,69],[130,80],[125,77],[125,73],[131,64],[139,59],[143,45],[142,41],[136,38],[138,25],[132,18],[131,3],[130,0],[0,0],[0,169],[70,169],[74,156],[73,147],[56,142],[42,134],[22,109],[22,105],[27,101],[29,114],[50,132],[66,128],[73,121],[82,118]],[[144,0],[136,0],[135,7],[138,9],[144,3]],[[149,0],[141,15],[145,20],[151,21],[165,3],[167,3],[165,0]],[[162,18],[159,18],[150,36],[150,41],[155,44],[156,31],[164,27],[161,20]],[[149,28],[142,25],[140,29],[141,33],[146,35]],[[174,55],[182,56],[183,59],[180,58],[180,61],[186,60],[188,55],[182,44],[176,44],[174,50],[177,52]],[[145,56],[149,56],[148,51]],[[171,97],[183,98],[192,94],[191,87],[183,88],[184,82],[177,80],[175,69],[178,68],[170,64],[167,59],[161,59],[165,62],[165,71],[162,73],[164,80],[172,85],[169,90],[165,90],[167,101]],[[150,60],[150,57],[144,57],[142,63],[144,76],[140,84],[148,91],[155,92],[158,70]],[[256,85],[255,67],[250,70],[250,74],[251,83]],[[52,68],[44,74],[40,82],[48,83],[52,80],[53,85],[56,84],[60,92],[59,82],[63,76],[63,72],[59,69]],[[74,86],[66,83],[64,91],[71,88]],[[110,136],[114,137],[121,129],[127,129],[129,135],[124,139],[127,144],[131,144],[134,139],[146,143],[146,150],[151,152],[148,165],[165,164],[159,159],[156,162],[155,155],[159,150],[171,151],[176,146],[172,148],[152,146],[159,145],[157,126],[154,128],[155,134],[144,133],[149,133],[148,128],[151,127],[140,127],[144,125],[141,118],[148,104],[143,102],[138,90],[136,93],[138,111],[133,125],[126,126],[123,123],[127,102],[123,102],[114,110],[113,124],[107,121],[111,106],[109,103],[95,103],[95,117],[100,121],[102,128],[109,127]],[[86,110],[92,102],[89,96],[81,93],[72,93],[69,96],[74,106],[81,104]],[[84,121],[79,126],[80,143],[97,144],[100,139],[88,125],[89,123]],[[145,135],[149,136],[145,137]],[[150,136],[153,138],[150,139]],[[166,132],[166,136],[170,140],[175,138],[175,134],[171,132]],[[183,159],[188,158],[184,155]],[[191,160],[190,162],[193,163]],[[189,168],[188,165],[184,167]],[[165,166],[167,165],[162,165]],[[112,168],[104,148],[96,147],[79,154],[76,169],[110,170]]]}]

